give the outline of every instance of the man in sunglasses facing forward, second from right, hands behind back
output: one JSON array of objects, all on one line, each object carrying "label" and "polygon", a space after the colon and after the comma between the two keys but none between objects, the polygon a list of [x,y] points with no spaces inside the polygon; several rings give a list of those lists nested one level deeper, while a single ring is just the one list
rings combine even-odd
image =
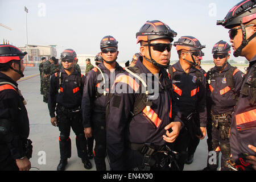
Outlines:
[{"label": "man in sunglasses facing forward, second from right, hands behind back", "polygon": [[[243,73],[228,63],[231,46],[220,40],[214,44],[212,49],[215,67],[207,72],[207,104],[210,109],[210,123],[212,130],[209,135],[212,137],[210,146],[216,152],[215,164],[209,161],[205,170],[216,170],[218,167],[218,155],[221,151],[221,170],[228,170],[225,163],[230,160],[229,130],[232,113],[240,94]],[[209,147],[208,147],[209,148]],[[210,151],[210,152],[212,152]]]}]

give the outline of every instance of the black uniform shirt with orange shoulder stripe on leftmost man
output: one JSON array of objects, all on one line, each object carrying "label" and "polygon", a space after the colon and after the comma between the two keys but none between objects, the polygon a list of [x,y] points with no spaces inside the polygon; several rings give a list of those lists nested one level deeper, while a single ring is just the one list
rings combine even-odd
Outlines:
[{"label": "black uniform shirt with orange shoulder stripe on leftmost man", "polygon": [[[0,82],[11,82],[18,86],[14,80],[1,72]],[[23,157],[23,148],[18,147],[17,143],[22,144],[23,140],[27,139],[30,133],[28,115],[18,92],[9,84],[0,85],[0,119],[7,119],[11,122],[11,132],[13,133],[14,140],[8,145],[9,152],[11,152],[14,159]],[[7,152],[6,149],[7,144],[0,144],[0,155],[3,154],[2,152]]]}]

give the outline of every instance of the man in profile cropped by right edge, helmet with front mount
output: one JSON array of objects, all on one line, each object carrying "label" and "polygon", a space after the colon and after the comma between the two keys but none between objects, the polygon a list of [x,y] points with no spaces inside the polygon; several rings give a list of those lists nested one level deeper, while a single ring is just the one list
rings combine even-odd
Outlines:
[{"label": "man in profile cropped by right edge, helmet with front mount", "polygon": [[217,24],[230,29],[234,56],[249,61],[232,117],[230,148],[237,168],[256,169],[256,2],[241,1]]}]

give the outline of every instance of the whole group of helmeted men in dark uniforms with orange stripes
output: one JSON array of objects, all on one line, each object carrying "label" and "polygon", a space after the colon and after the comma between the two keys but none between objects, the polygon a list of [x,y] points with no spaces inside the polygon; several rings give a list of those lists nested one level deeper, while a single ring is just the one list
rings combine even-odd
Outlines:
[{"label": "whole group of helmeted men in dark uniforms with orange stripes", "polygon": [[[216,41],[215,66],[208,72],[200,67],[205,46],[199,39],[181,36],[172,44],[177,33],[159,20],[147,21],[137,32],[139,52],[125,68],[116,61],[118,41],[110,35],[101,39],[96,66],[86,59],[85,74],[73,49],[61,53],[61,64],[55,57],[43,57],[40,92],[51,124],[60,131],[57,170],[65,170],[71,157],[71,128],[86,169],[92,168],[89,159],[94,158],[96,169],[106,171],[108,156],[111,170],[183,170],[207,133],[204,170],[255,170],[255,6],[254,0],[241,1],[217,21],[229,29],[231,46]],[[174,65],[172,46],[179,55]],[[231,48],[234,56],[249,61],[245,73],[228,63]],[[16,83],[24,76],[25,55],[14,46],[0,45],[1,170],[31,168],[26,103]]]}]

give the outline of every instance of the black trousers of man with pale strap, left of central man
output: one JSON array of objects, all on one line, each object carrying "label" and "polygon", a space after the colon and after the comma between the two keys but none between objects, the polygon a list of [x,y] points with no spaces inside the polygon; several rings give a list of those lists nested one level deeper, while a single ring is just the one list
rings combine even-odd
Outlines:
[{"label": "black trousers of man with pale strap, left of central man", "polygon": [[105,113],[92,114],[92,132],[95,139],[94,162],[97,171],[106,171],[106,120]]}]

